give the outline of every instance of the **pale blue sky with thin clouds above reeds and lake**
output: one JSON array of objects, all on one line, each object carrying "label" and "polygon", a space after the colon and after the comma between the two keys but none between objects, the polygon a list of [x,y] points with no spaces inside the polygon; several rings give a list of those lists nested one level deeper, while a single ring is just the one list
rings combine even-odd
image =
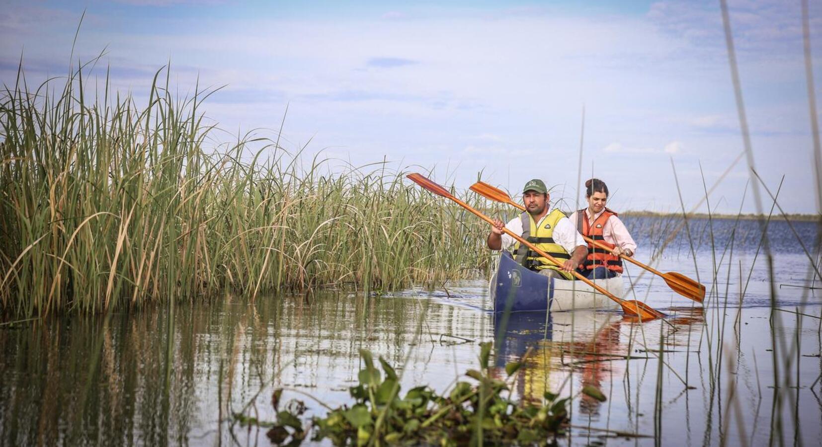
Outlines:
[{"label": "pale blue sky with thin clouds above reeds and lake", "polygon": [[[758,171],[772,189],[786,176],[786,211],[815,213],[800,3],[730,5]],[[21,54],[30,82],[65,74],[84,10],[75,57],[105,48],[118,90],[145,98],[169,60],[183,94],[226,85],[204,104],[224,141],[273,135],[288,107],[288,149],[436,168],[457,187],[542,177],[573,202],[584,107],[583,179],[603,178],[617,210],[678,210],[672,160],[690,208],[700,165],[710,186],[742,150],[718,2],[12,0],[0,82]],[[819,55],[822,7],[810,16]],[[718,211],[737,212],[748,178],[742,160]]]}]

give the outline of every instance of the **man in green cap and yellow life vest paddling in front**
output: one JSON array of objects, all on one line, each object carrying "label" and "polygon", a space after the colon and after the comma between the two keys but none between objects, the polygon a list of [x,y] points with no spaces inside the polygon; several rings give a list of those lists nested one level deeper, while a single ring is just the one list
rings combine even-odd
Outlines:
[{"label": "man in green cap and yellow life vest paddling in front", "polygon": [[[488,235],[488,248],[501,250],[514,245],[514,257],[520,265],[550,278],[573,279],[571,272],[588,256],[588,244],[562,211],[548,212],[549,195],[542,180],[534,178],[525,183],[522,198],[525,211],[520,217],[511,219],[508,224],[502,224],[499,219],[494,220],[491,234]],[[502,228],[522,235],[526,241],[553,256],[562,265],[555,265],[528,247],[520,247],[520,242],[515,243],[513,237],[502,233]]]}]

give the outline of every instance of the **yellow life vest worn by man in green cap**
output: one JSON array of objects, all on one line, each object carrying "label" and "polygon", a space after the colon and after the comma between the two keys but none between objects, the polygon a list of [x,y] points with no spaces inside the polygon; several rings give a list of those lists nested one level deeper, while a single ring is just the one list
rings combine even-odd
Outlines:
[{"label": "yellow life vest worn by man in green cap", "polygon": [[[547,254],[556,258],[560,262],[570,259],[570,255],[560,244],[554,242],[554,228],[560,219],[566,217],[560,210],[553,210],[549,213],[537,227],[537,223],[533,221],[531,214],[525,211],[520,214],[522,221],[522,237],[538,249],[545,251]],[[552,269],[558,271],[566,279],[573,279],[570,272],[561,270],[559,266],[547,258],[539,256],[536,251],[530,250],[528,247],[520,247],[520,242],[514,245],[514,259],[530,270]]]}]

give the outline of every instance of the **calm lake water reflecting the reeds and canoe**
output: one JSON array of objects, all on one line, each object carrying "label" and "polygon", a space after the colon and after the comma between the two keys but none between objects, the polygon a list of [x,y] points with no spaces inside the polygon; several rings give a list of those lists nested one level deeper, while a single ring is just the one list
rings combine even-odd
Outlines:
[{"label": "calm lake water reflecting the reeds and canoe", "polygon": [[[626,224],[638,259],[660,255],[658,270],[699,276],[706,306],[631,266],[626,297],[667,319],[520,314],[496,334],[496,374],[528,353],[512,385],[520,399],[603,390],[604,403],[573,401],[574,427],[561,444],[820,445],[822,290],[794,286],[822,284],[811,281],[812,262],[787,224],[769,226],[773,276],[764,248],[757,255],[755,221],[712,228],[697,219],[690,240],[680,233],[664,251],[675,219]],[[815,224],[794,226],[818,260]],[[360,348],[397,366],[404,390],[444,391],[477,367],[478,343],[495,338],[491,307],[487,279],[475,279],[383,297],[225,296],[0,326],[0,445],[269,445],[266,429],[233,424],[231,414],[273,419],[270,393],[279,387],[284,399],[305,401],[309,415],[325,413],[315,398],[349,403]]]}]

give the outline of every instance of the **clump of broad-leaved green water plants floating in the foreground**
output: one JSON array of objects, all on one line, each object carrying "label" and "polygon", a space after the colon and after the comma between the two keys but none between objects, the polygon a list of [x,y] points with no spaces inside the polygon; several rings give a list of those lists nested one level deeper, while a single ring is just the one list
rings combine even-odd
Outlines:
[{"label": "clump of broad-leaved green water plants floating in the foreground", "polygon": [[[277,412],[277,422],[259,422],[235,414],[243,424],[270,426],[268,436],[275,445],[298,445],[313,432],[312,440],[330,439],[335,445],[489,445],[548,444],[565,431],[570,398],[545,393],[544,404],[517,404],[510,399],[508,384],[496,379],[488,367],[491,343],[483,343],[481,370],[469,370],[474,382],[459,381],[447,394],[436,394],[427,386],[410,389],[400,397],[399,377],[384,359],[379,361],[383,378],[372,354],[361,350],[364,366],[359,385],[349,389],[353,404],[331,409],[325,417],[313,417],[311,426],[299,420],[305,406],[292,401],[291,409]],[[514,378],[522,363],[506,366]],[[279,410],[282,389],[274,392]],[[295,403],[296,402],[296,403]]]}]

